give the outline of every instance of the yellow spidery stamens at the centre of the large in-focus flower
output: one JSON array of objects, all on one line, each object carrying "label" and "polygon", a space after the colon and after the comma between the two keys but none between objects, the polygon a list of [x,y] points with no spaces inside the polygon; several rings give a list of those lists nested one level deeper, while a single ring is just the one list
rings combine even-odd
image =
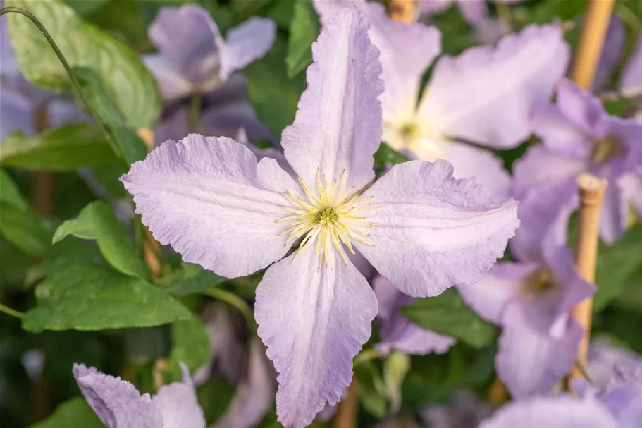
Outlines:
[{"label": "yellow spidery stamens at the centre of the large in-focus flower", "polygon": [[288,205],[283,208],[292,213],[278,219],[278,221],[289,222],[290,228],[281,233],[290,235],[285,246],[305,236],[299,245],[295,259],[304,248],[316,241],[314,253],[319,255],[319,269],[323,260],[332,268],[328,252],[333,248],[339,252],[347,266],[347,255],[343,245],[352,254],[354,254],[353,240],[364,245],[372,245],[366,240],[368,233],[364,231],[364,228],[374,226],[366,221],[364,216],[366,212],[376,209],[369,203],[372,197],[360,197],[358,192],[353,192],[354,188],[346,188],[345,171],[341,175],[341,183],[336,180],[330,183],[326,176],[321,176],[321,172],[317,170],[316,192],[311,190],[301,178],[299,183],[305,193],[304,198],[295,195],[291,190],[283,193],[283,197],[288,202]]}]

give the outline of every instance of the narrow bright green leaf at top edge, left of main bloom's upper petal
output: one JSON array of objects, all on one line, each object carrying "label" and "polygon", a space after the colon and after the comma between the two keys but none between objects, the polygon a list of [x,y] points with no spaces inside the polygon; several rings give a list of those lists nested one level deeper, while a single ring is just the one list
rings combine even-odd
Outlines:
[{"label": "narrow bright green leaf at top edge, left of main bloom's upper petal", "polygon": [[288,39],[288,78],[294,78],[312,63],[312,42],[319,37],[319,17],[311,1],[295,2],[295,16]]}]

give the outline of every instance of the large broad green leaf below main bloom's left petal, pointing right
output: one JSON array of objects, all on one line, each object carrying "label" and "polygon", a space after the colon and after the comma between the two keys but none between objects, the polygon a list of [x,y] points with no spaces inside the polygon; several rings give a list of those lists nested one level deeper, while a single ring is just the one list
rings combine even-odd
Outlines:
[{"label": "large broad green leaf below main bloom's left petal, pointing right", "polygon": [[192,317],[160,288],[104,262],[59,257],[35,295],[37,306],[23,317],[23,329],[35,333],[150,327]]}]

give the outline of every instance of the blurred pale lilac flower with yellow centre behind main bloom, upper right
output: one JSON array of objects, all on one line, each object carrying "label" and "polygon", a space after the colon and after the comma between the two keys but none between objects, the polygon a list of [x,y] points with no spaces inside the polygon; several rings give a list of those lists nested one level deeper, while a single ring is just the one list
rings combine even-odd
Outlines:
[{"label": "blurred pale lilac flower with yellow centre behind main bloom, upper right", "polygon": [[[507,197],[510,177],[502,160],[479,146],[510,149],[529,137],[531,108],[548,100],[567,68],[561,28],[531,25],[497,47],[442,56],[420,94],[421,78],[440,54],[439,30],[391,21],[377,2],[354,4],[371,19],[370,37],[381,51],[383,141],[416,159],[447,159],[455,177],[475,177],[497,197]],[[314,1],[324,23],[349,5]]]}]

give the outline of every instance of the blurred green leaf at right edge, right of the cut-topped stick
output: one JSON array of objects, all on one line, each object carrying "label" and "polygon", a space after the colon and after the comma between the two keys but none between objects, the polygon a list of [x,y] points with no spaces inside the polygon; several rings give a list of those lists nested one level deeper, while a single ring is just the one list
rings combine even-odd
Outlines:
[{"label": "blurred green leaf at right edge, right of the cut-topped stick", "polygon": [[642,225],[630,228],[613,245],[600,243],[595,267],[597,291],[593,297],[593,312],[600,312],[622,293],[632,277],[642,267]]}]

